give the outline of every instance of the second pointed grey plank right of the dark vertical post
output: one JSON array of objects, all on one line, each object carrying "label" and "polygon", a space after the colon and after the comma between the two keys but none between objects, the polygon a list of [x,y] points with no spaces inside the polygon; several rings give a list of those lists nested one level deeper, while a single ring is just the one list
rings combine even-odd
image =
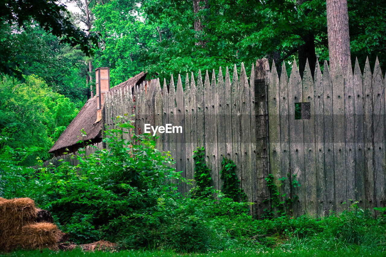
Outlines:
[{"label": "second pointed grey plank right of the dark vertical post", "polygon": [[[279,81],[279,118],[280,118],[280,170],[281,177],[288,178],[282,181],[282,194],[284,198],[291,197],[291,169],[289,167],[289,107],[288,107],[288,75],[283,62]],[[289,214],[287,203],[284,208]]]}]

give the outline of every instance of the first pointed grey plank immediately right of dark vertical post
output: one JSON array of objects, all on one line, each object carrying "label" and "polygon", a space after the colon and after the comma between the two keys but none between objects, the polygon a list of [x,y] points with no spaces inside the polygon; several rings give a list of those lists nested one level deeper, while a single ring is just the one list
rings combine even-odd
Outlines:
[{"label": "first pointed grey plank immediately right of dark vertical post", "polygon": [[[276,71],[275,62],[272,63],[271,78],[268,84],[268,124],[269,124],[269,164],[270,174],[274,177],[274,183],[279,191],[277,197],[283,201],[283,190],[280,186],[281,181],[281,150],[280,150],[280,107],[279,107],[279,77]],[[274,206],[275,207],[275,206]],[[279,207],[279,206],[276,206]],[[283,207],[283,206],[281,206]],[[273,210],[277,215],[278,208]]]}]

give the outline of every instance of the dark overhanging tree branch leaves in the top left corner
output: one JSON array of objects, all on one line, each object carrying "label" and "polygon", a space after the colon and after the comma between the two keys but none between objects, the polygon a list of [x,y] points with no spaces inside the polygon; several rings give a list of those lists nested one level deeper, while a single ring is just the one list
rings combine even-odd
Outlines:
[{"label": "dark overhanging tree branch leaves in the top left corner", "polygon": [[[33,20],[36,25],[46,32],[51,32],[60,38],[60,43],[69,44],[71,47],[80,46],[82,52],[90,56],[98,40],[98,35],[87,34],[84,30],[75,27],[69,20],[69,12],[63,4],[54,1],[42,0],[7,0],[2,3],[0,12],[0,76],[11,76],[24,82],[23,74],[30,74],[24,65],[22,54],[12,52],[15,49],[4,40],[4,34],[20,28],[28,27]],[[11,28],[12,27],[12,28]],[[11,29],[10,29],[11,28]],[[36,49],[38,46],[34,46]],[[17,49],[16,49],[17,50]]]}]

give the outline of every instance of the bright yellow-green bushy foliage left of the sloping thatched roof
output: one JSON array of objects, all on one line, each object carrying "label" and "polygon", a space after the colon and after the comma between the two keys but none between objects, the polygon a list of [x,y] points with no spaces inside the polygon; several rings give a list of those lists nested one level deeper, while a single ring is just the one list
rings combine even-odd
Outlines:
[{"label": "bright yellow-green bushy foliage left of the sloping thatched roof", "polygon": [[0,94],[0,137],[8,138],[0,145],[0,151],[5,146],[40,148],[25,158],[23,165],[34,164],[37,156],[49,157],[54,140],[78,113],[74,103],[49,90],[36,76],[27,76],[25,83],[17,84],[3,79]]}]

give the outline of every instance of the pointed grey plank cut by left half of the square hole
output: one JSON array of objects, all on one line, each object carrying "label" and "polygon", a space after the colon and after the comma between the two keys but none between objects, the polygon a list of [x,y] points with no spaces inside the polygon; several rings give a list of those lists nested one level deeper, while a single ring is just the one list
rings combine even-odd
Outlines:
[{"label": "pointed grey plank cut by left half of the square hole", "polygon": [[288,98],[291,175],[295,175],[295,179],[301,184],[300,187],[292,190],[291,198],[294,200],[293,214],[300,216],[305,214],[303,120],[295,120],[295,103],[301,102],[303,96],[301,78],[296,61],[293,63],[291,75],[289,76]]}]

